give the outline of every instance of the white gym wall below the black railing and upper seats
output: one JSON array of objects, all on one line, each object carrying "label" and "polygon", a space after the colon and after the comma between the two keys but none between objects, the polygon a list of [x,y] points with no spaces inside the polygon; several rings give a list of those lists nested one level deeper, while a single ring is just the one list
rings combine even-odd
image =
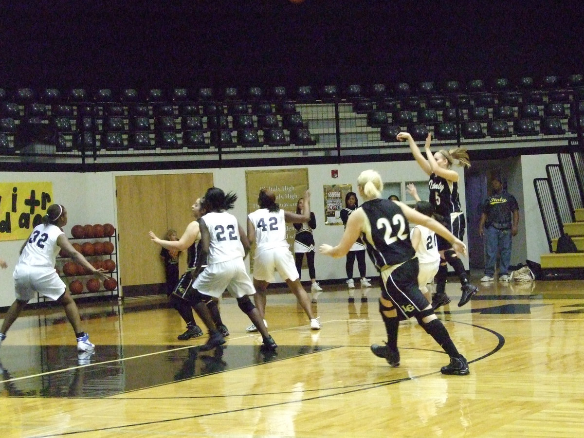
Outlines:
[{"label": "white gym wall below the black railing and upper seats", "polygon": [[[527,244],[527,258],[539,262],[540,254],[548,252],[545,233],[541,223],[537,200],[533,189],[533,178],[545,176],[545,165],[557,163],[557,155],[528,155],[522,157],[521,179],[523,193],[520,187],[514,188],[513,194],[517,196],[520,205],[524,204],[525,211],[525,236]],[[342,233],[343,227],[324,225],[324,197],[323,185],[351,183],[356,189],[356,179],[364,169],[371,168],[381,173],[384,182],[410,182],[413,180],[426,180],[427,176],[421,171],[415,161],[400,162],[373,162],[369,164],[340,164],[340,165],[312,165],[293,166],[296,168],[308,168],[308,183],[312,193],[311,209],[317,215],[318,227],[314,232],[317,246],[322,243],[336,244]],[[256,170],[271,169],[254,168]],[[331,170],[337,169],[338,178],[331,178]],[[159,171],[155,173],[190,173],[209,172],[209,169],[192,169],[180,171]],[[234,213],[241,223],[245,223],[245,168],[214,169],[214,181],[225,192],[235,192],[240,196],[240,201],[235,205]],[[146,172],[100,172],[100,173],[51,173],[51,172],[4,172],[0,174],[0,182],[24,182],[24,181],[51,181],[53,183],[53,196],[55,203],[64,204],[68,209],[69,224],[65,227],[67,235],[71,235],[71,226],[74,224],[112,223],[117,227],[115,177],[116,175],[136,175]],[[148,172],[152,173],[152,172]],[[514,179],[519,177],[514,177]],[[460,198],[465,209],[464,175],[461,171],[459,190]],[[199,194],[197,194],[199,195]],[[523,201],[521,200],[523,198]],[[148,214],[148,212],[144,212]],[[1,216],[1,213],[0,213]],[[145,232],[144,238],[148,238]],[[12,271],[18,259],[18,251],[22,241],[0,242],[0,257],[8,262],[8,269],[0,270],[0,307],[8,306],[14,300]],[[522,251],[519,241],[514,243],[514,251]],[[344,279],[345,258],[330,259],[317,253],[315,265],[318,280]],[[468,262],[465,260],[465,267]],[[145,268],[146,269],[146,268]],[[367,260],[367,275],[373,276],[375,270]],[[123,273],[120,272],[120,276]],[[307,280],[308,273],[303,272],[303,280]],[[279,281],[279,279],[277,279]]]}]

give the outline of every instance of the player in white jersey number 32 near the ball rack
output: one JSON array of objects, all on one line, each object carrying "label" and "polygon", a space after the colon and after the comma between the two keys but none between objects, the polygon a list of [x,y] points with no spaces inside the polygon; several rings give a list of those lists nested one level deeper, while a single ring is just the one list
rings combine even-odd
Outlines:
[{"label": "player in white jersey number 32 near the ball rack", "polygon": [[43,223],[34,227],[30,237],[20,248],[20,257],[13,274],[16,300],[2,321],[0,342],[6,338],[6,332],[16,321],[26,303],[39,293],[63,306],[65,315],[75,331],[79,352],[87,352],[95,348],[95,345],[89,342],[89,335],[81,328],[77,304],[55,270],[55,259],[62,249],[89,272],[106,278],[107,274],[103,269],[95,269],[81,253],[73,248],[61,229],[65,225],[67,225],[65,207],[60,204],[51,205],[47,208],[47,214],[43,216]]}]

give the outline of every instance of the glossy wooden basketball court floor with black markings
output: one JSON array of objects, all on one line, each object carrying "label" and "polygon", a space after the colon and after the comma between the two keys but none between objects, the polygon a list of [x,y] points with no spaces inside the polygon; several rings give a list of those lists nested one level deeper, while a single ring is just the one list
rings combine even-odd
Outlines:
[{"label": "glossy wooden basketball court floor with black markings", "polygon": [[[478,274],[474,275],[479,278]],[[78,357],[60,308],[29,310],[0,348],[2,437],[580,437],[584,430],[584,283],[479,284],[479,294],[437,314],[470,362],[443,376],[448,357],[416,324],[400,325],[401,366],[383,343],[378,287],[369,301],[325,286],[314,304],[322,331],[291,294],[270,294],[259,335],[234,298],[221,312],[223,347],[199,352],[166,297],[82,303],[95,354]],[[344,286],[344,285],[343,285]]]}]

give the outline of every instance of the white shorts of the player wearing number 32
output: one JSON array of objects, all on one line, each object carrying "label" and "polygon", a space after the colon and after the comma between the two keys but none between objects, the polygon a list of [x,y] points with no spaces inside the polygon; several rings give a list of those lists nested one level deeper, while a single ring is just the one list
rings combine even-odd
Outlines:
[{"label": "white shorts of the player wearing number 32", "polygon": [[20,301],[30,301],[37,293],[57,301],[65,293],[65,283],[54,268],[19,265],[12,277],[14,294]]}]

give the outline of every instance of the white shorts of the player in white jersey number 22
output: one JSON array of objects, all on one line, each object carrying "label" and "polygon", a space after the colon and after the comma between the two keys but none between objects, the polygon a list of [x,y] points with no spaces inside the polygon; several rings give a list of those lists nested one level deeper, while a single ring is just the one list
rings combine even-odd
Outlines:
[{"label": "white shorts of the player in white jersey number 22", "polygon": [[255,294],[242,257],[208,265],[194,280],[193,288],[215,298],[220,298],[225,289],[235,298]]}]

